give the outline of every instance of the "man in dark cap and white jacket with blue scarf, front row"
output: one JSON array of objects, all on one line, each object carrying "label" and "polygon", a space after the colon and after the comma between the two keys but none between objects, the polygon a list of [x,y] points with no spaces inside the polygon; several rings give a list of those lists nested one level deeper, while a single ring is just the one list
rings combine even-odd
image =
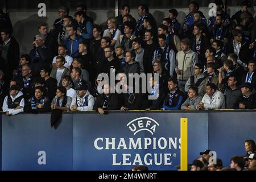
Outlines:
[{"label": "man in dark cap and white jacket with blue scarf, front row", "polygon": [[82,80],[78,88],[76,89],[77,96],[76,99],[72,100],[71,110],[72,111],[89,111],[93,109],[94,98],[89,93],[87,84]]}]

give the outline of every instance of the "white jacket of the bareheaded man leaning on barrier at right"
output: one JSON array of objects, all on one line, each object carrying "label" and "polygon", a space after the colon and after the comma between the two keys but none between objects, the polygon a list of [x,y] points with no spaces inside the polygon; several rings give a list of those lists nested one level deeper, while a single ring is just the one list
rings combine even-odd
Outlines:
[{"label": "white jacket of the bareheaded man leaning on barrier at right", "polygon": [[225,108],[225,97],[222,92],[216,90],[213,94],[212,98],[205,94],[202,101],[204,103],[205,110],[213,110],[213,109],[224,109]]}]

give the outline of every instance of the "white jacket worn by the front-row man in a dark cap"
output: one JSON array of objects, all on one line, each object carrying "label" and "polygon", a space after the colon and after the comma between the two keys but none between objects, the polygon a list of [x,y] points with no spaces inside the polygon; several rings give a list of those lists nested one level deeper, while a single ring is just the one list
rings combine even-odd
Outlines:
[{"label": "white jacket worn by the front-row man in a dark cap", "polygon": [[[88,96],[88,106],[85,106],[85,97]],[[94,97],[90,94],[90,92],[87,90],[84,97],[80,98],[79,96],[76,96],[75,99],[72,100],[71,103],[71,110],[72,106],[77,106],[78,111],[89,111],[93,110],[94,105]]]}]

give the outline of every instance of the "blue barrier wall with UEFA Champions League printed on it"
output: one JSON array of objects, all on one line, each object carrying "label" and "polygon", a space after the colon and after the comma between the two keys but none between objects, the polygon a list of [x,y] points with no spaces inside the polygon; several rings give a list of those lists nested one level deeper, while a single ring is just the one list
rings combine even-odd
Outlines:
[{"label": "blue barrier wall with UEFA Champions League printed on it", "polygon": [[180,163],[180,118],[188,118],[188,162],[209,146],[228,166],[232,155],[245,154],[245,139],[256,139],[255,116],[67,113],[55,130],[50,114],[2,115],[2,170],[130,170],[134,164],[172,170]]}]

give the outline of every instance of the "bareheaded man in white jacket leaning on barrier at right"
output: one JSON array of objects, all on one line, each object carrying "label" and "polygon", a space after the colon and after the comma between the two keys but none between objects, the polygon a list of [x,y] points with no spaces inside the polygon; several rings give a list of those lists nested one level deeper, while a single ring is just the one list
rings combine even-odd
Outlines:
[{"label": "bareheaded man in white jacket leaning on barrier at right", "polygon": [[217,90],[217,86],[208,83],[202,101],[197,104],[197,110],[214,110],[225,108],[225,97]]}]

